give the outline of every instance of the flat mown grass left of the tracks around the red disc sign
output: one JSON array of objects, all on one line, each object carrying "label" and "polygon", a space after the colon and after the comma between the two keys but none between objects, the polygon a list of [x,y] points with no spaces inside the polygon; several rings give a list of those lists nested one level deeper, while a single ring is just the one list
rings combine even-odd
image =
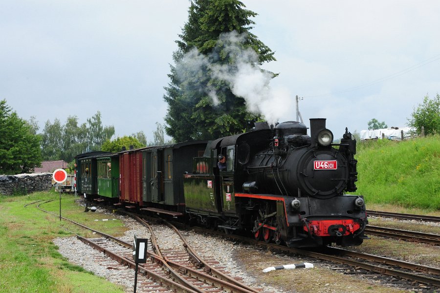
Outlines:
[{"label": "flat mown grass left of the tracks around the red disc sign", "polygon": [[[44,213],[36,204],[24,208],[33,201],[49,199],[55,201],[43,208],[59,213],[59,193],[54,191],[0,197],[0,292],[124,292],[120,286],[68,263],[52,242],[56,237],[73,235],[62,227],[86,235],[84,231]],[[96,230],[116,234],[125,230],[120,220],[94,221],[111,215],[85,213],[72,195],[62,195],[61,210],[63,216]]]}]

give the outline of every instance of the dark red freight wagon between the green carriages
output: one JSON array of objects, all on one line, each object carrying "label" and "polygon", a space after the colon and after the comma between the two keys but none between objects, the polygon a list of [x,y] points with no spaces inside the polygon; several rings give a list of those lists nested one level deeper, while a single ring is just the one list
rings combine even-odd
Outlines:
[{"label": "dark red freight wagon between the green carriages", "polygon": [[119,202],[142,206],[142,153],[130,149],[119,153]]}]

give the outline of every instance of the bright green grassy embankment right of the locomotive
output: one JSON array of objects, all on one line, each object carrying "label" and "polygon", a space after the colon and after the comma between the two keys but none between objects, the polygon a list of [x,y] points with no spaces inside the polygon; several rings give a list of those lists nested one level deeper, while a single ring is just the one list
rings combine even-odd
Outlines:
[{"label": "bright green grassy embankment right of the locomotive", "polygon": [[440,210],[440,136],[358,144],[356,194],[369,203]]}]

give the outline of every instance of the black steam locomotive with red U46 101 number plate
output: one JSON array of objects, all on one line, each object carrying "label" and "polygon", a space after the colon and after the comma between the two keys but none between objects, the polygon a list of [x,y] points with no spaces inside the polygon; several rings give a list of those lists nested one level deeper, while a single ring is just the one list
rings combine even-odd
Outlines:
[{"label": "black steam locomotive with red U46 101 number plate", "polygon": [[284,122],[208,142],[184,178],[187,216],[289,247],[361,244],[364,199],[346,194],[356,190],[356,141],[346,128],[333,144],[325,121],[310,119],[310,135],[304,124]]}]

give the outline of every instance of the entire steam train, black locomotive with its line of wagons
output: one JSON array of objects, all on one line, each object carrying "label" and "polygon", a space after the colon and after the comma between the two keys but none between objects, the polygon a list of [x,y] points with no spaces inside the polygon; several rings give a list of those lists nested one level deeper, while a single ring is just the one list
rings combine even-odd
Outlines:
[{"label": "entire steam train, black locomotive with its line of wagons", "polygon": [[[345,194],[356,190],[356,141],[346,128],[333,144],[325,121],[310,119],[310,135],[298,122],[259,123],[213,141],[78,155],[77,188],[94,184],[84,193],[95,200],[112,197],[126,209],[289,247],[360,245],[368,238],[365,202]],[[112,175],[108,166],[118,171]],[[106,170],[107,183],[100,175]],[[110,186],[113,195],[100,191]]]}]

